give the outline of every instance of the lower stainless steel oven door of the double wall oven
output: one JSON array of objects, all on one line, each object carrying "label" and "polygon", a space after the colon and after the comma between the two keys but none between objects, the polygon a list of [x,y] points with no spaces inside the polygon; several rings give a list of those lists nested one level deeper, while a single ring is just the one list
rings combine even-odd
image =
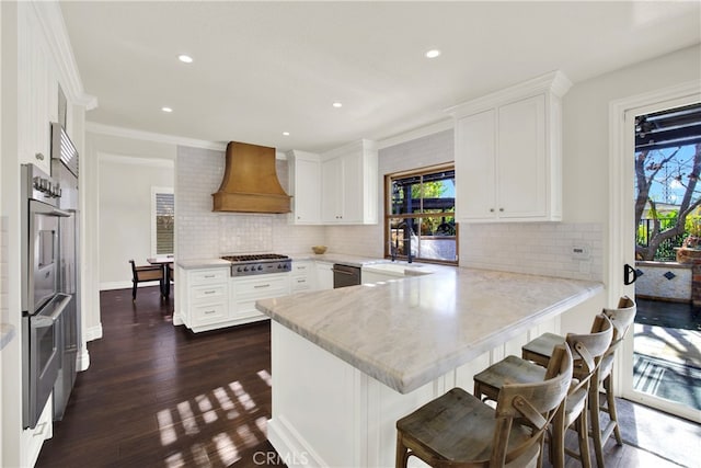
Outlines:
[{"label": "lower stainless steel oven door of the double wall oven", "polygon": [[71,296],[55,295],[34,315],[23,317],[25,352],[23,374],[25,383],[23,426],[34,427],[48,401],[61,367],[61,313]]}]

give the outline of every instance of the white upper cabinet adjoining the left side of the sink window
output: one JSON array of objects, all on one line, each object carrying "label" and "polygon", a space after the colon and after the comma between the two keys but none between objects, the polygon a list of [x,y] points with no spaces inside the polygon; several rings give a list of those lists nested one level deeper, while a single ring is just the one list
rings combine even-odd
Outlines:
[{"label": "white upper cabinet adjoining the left side of the sink window", "polygon": [[360,140],[322,155],[321,194],[323,224],[377,224],[376,145]]}]

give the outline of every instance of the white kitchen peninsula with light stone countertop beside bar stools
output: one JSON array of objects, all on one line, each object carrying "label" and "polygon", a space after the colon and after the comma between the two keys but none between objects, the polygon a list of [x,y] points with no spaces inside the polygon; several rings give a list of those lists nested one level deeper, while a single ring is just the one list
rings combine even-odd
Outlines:
[{"label": "white kitchen peninsula with light stone countertop beside bar stools", "polygon": [[[268,440],[288,466],[393,466],[395,421],[596,296],[596,282],[441,269],[256,303],[272,319]],[[596,311],[591,311],[593,316]]]}]

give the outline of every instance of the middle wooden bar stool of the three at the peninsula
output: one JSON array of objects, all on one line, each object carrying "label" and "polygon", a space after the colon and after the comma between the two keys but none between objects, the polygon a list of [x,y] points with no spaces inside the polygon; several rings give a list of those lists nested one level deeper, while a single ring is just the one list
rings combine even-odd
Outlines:
[{"label": "middle wooden bar stool of the three at the peninsula", "polygon": [[[599,364],[612,336],[611,321],[600,313],[594,320],[591,333],[568,333],[565,339],[573,351],[575,378],[567,392],[565,404],[561,411],[558,411],[552,424],[550,460],[555,467],[564,466],[565,453],[578,458],[585,468],[591,466],[587,424],[589,381],[596,378]],[[516,356],[507,356],[474,376],[474,395],[496,400],[505,385],[537,381],[542,379],[544,374],[545,368],[536,363]],[[573,424],[577,432],[579,453],[565,449],[565,433],[567,427]]]}]

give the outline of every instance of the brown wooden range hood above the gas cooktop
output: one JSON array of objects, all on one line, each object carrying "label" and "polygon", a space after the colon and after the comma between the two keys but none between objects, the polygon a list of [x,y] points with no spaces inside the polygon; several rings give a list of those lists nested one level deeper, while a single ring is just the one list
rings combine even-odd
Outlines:
[{"label": "brown wooden range hood above the gas cooktop", "polygon": [[229,141],[214,212],[289,213],[290,196],[275,172],[275,148]]}]

